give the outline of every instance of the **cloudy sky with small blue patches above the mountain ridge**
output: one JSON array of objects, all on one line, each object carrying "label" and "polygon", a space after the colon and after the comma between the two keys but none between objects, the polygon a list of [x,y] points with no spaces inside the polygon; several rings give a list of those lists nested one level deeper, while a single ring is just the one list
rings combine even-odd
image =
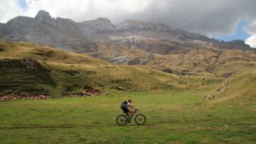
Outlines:
[{"label": "cloudy sky with small blue patches above the mountain ridge", "polygon": [[256,48],[256,0],[0,0],[0,22],[38,11],[53,18],[88,21],[108,18],[168,24],[218,40],[245,40]]}]

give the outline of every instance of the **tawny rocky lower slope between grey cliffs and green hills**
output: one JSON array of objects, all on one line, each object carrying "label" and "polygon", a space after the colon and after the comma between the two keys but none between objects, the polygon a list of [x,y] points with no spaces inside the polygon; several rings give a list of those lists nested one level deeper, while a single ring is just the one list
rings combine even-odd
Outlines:
[{"label": "tawny rocky lower slope between grey cliffs and green hills", "polygon": [[[121,43],[101,43],[98,52],[90,56],[123,65],[150,66],[180,75],[213,73],[223,75],[245,69],[256,69],[253,50],[219,49],[208,42],[178,43],[166,40],[131,40]],[[229,46],[230,49],[229,49]],[[236,46],[239,47],[237,44]],[[121,47],[121,48],[120,48]]]}]

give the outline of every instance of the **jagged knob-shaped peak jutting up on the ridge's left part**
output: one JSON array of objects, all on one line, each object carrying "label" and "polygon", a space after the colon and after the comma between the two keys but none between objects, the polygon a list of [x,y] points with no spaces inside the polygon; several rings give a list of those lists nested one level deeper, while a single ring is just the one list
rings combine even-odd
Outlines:
[{"label": "jagged knob-shaped peak jutting up on the ridge's left part", "polygon": [[55,18],[52,18],[49,12],[47,11],[43,11],[43,10],[38,11],[35,19],[37,21],[40,21],[41,23],[56,25]]}]

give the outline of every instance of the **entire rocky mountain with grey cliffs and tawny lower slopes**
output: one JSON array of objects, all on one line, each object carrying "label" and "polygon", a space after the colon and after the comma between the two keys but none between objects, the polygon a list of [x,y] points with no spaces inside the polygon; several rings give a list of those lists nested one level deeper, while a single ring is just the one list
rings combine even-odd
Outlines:
[{"label": "entire rocky mountain with grey cliffs and tawny lower slopes", "polygon": [[[234,51],[226,50],[255,51],[243,40],[219,42],[200,34],[174,30],[166,24],[134,20],[112,24],[107,18],[75,22],[52,18],[43,10],[35,18],[19,16],[0,24],[0,38],[55,46],[108,62],[146,65],[176,73],[213,73],[221,64],[220,57],[226,53],[235,57]],[[242,53],[235,59],[254,61],[251,54]]]}]

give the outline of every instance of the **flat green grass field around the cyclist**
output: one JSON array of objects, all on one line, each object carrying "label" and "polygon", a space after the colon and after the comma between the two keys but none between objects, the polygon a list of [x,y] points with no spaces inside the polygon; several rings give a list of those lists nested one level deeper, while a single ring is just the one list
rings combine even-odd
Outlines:
[{"label": "flat green grass field around the cyclist", "polygon": [[[1,102],[0,143],[255,143],[255,95],[214,103],[222,97],[205,101],[205,91]],[[117,126],[126,98],[146,115],[144,126]]]}]

